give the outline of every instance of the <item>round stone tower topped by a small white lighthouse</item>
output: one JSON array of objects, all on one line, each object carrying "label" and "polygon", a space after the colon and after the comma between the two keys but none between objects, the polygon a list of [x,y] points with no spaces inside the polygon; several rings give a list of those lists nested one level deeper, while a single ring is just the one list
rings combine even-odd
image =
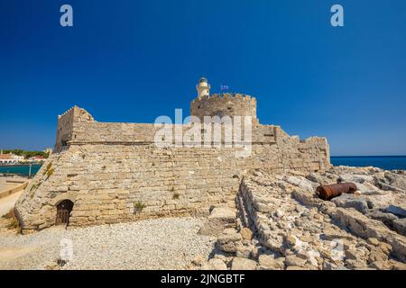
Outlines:
[{"label": "round stone tower topped by a small white lighthouse", "polygon": [[196,85],[198,97],[190,103],[190,115],[204,121],[204,116],[251,116],[254,123],[256,118],[256,99],[243,94],[209,94],[208,79],[201,78]]}]

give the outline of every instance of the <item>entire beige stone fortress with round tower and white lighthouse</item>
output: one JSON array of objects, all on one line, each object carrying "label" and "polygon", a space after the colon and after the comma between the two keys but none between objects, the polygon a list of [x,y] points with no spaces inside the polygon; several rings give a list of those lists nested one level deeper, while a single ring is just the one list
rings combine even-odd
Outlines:
[{"label": "entire beige stone fortress with round tower and white lighthouse", "polygon": [[[251,116],[252,151],[240,147],[166,147],[155,144],[153,123],[98,122],[75,106],[58,118],[54,153],[15,206],[24,233],[55,224],[86,226],[180,215],[208,215],[214,205],[235,205],[250,171],[323,172],[330,167],[327,139],[300,140],[280,126],[263,125],[256,99],[242,94],[209,94],[205,78],[190,114]],[[190,123],[173,124],[187,131]],[[202,130],[202,134],[208,133]]]}]

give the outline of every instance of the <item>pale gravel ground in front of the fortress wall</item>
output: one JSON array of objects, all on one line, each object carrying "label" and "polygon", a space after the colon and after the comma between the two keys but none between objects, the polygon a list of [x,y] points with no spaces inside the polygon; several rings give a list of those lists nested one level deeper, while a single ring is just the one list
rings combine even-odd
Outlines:
[{"label": "pale gravel ground in front of the fortress wall", "polygon": [[55,267],[60,240],[73,244],[62,269],[185,269],[195,257],[208,257],[215,238],[198,235],[203,221],[167,218],[31,235],[0,236],[0,269]]}]

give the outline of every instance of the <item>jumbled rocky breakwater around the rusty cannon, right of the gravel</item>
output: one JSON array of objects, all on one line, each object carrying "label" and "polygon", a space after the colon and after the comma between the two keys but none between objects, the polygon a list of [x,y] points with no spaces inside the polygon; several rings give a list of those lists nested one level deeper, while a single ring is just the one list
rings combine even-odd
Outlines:
[{"label": "jumbled rocky breakwater around the rusty cannon, right of the gravel", "polygon": [[[355,183],[357,192],[319,198],[318,185],[340,182]],[[242,181],[237,211],[223,210],[228,219],[214,233],[217,246],[198,268],[404,270],[405,190],[401,171],[374,167],[255,171]]]}]

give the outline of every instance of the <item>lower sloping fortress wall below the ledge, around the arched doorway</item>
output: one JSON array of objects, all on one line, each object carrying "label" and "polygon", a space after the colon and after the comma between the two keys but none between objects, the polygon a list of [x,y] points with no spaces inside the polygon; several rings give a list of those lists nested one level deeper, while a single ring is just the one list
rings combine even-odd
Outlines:
[{"label": "lower sloping fortress wall below the ledge, around the arched doorway", "polygon": [[[72,145],[42,166],[17,202],[17,214],[26,232],[54,225],[64,199],[74,202],[70,226],[206,214],[211,205],[234,202],[248,170],[319,170],[328,160],[317,141],[310,144],[304,152],[294,143],[255,144],[247,158],[235,157],[237,148]],[[136,202],[143,211],[134,213]]]}]

